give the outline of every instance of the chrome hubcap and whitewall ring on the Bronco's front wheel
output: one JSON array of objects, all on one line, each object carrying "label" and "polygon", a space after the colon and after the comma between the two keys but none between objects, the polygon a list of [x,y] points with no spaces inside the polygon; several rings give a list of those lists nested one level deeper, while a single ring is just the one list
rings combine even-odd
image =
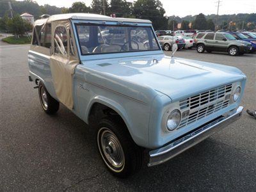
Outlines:
[{"label": "chrome hubcap and whitewall ring on the Bronco's front wheel", "polygon": [[102,127],[97,136],[100,155],[107,166],[114,172],[124,168],[124,150],[116,135],[106,127]]}]

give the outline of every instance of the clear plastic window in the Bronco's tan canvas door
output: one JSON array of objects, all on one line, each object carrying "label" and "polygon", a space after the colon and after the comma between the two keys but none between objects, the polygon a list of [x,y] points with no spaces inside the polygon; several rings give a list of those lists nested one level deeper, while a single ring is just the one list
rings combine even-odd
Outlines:
[{"label": "clear plastic window in the Bronco's tan canvas door", "polygon": [[54,52],[67,56],[67,31],[66,28],[60,26],[55,29],[54,33]]}]

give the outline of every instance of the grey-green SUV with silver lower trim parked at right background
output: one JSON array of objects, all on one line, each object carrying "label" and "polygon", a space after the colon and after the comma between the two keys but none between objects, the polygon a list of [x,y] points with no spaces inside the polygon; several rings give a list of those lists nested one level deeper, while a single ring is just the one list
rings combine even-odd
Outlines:
[{"label": "grey-green SUV with silver lower trim parked at right background", "polygon": [[252,44],[242,40],[236,40],[229,33],[198,33],[195,38],[196,50],[199,53],[204,51],[228,52],[230,56],[237,56],[252,50]]}]

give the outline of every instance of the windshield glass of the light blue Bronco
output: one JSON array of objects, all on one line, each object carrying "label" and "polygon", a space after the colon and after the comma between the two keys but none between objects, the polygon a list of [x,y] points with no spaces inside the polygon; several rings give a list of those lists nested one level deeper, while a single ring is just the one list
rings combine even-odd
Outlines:
[{"label": "windshield glass of the light blue Bronco", "polygon": [[150,26],[77,24],[81,54],[160,50]]}]

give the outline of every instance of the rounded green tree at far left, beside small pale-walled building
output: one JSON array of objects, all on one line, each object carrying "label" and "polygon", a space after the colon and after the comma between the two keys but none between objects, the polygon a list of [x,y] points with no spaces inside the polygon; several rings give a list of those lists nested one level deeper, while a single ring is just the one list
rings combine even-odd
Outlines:
[{"label": "rounded green tree at far left, beside small pale-walled building", "polygon": [[6,27],[10,33],[15,34],[17,37],[24,35],[24,33],[32,29],[31,24],[27,20],[22,19],[19,14],[15,14],[12,19],[8,19]]}]

